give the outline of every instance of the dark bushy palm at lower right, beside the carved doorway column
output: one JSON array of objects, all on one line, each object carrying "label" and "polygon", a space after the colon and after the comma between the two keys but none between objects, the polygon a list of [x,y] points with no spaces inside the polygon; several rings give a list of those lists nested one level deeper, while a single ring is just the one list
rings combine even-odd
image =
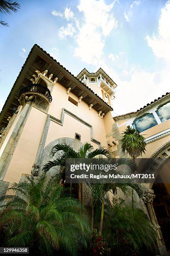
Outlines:
[{"label": "dark bushy palm at lower right, beside the carved doorway column", "polygon": [[154,225],[141,209],[133,212],[122,200],[107,205],[105,218],[104,231],[113,255],[144,255],[142,248],[155,247]]}]

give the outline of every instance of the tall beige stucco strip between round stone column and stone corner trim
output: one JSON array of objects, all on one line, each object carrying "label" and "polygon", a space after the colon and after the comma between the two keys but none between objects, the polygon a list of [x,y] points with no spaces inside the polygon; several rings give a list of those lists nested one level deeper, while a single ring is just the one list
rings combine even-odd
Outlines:
[{"label": "tall beige stucco strip between round stone column and stone corner trim", "polygon": [[45,113],[32,107],[3,179],[4,181],[10,183],[18,182],[22,173],[30,174],[37,154],[45,119]]}]

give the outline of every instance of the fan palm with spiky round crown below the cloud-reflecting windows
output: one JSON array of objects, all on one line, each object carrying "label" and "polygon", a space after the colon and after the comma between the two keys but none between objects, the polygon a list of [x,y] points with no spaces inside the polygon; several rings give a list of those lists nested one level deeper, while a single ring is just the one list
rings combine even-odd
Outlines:
[{"label": "fan palm with spiky round crown below the cloud-reflecting windows", "polygon": [[[145,137],[141,135],[136,128],[131,128],[130,126],[128,126],[126,130],[122,133],[122,138],[120,142],[122,146],[122,153],[132,157],[134,162],[135,162],[135,158],[142,156],[142,154],[145,154],[145,151],[146,151]],[[132,208],[134,212],[133,190],[132,190]]]}]

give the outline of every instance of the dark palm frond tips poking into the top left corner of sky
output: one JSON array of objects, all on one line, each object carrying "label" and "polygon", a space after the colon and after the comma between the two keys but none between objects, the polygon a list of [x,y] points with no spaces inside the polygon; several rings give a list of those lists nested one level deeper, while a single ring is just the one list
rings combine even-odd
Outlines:
[{"label": "dark palm frond tips poking into the top left corner of sky", "polygon": [[[12,12],[16,13],[18,9],[20,9],[20,4],[18,4],[16,1],[13,2],[12,0],[0,0],[0,13],[7,13],[7,14],[11,14]],[[3,20],[0,20],[0,24],[2,26],[9,27],[9,25]]]}]

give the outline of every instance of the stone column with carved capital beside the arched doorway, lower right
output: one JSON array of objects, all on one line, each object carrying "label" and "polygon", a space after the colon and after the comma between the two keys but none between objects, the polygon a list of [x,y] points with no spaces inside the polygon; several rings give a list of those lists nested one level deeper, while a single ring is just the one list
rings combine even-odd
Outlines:
[{"label": "stone column with carved capital beside the arched doorway, lower right", "polygon": [[154,198],[155,198],[155,195],[154,195],[153,189],[149,189],[144,192],[143,201],[145,202],[145,205],[147,207],[150,220],[155,225],[155,230],[157,232],[157,245],[158,245],[157,250],[158,250],[158,253],[160,253],[160,255],[164,255],[166,253],[166,247],[163,240],[162,232],[160,230],[160,225],[158,224],[158,220],[156,218],[155,211],[153,208]]}]

